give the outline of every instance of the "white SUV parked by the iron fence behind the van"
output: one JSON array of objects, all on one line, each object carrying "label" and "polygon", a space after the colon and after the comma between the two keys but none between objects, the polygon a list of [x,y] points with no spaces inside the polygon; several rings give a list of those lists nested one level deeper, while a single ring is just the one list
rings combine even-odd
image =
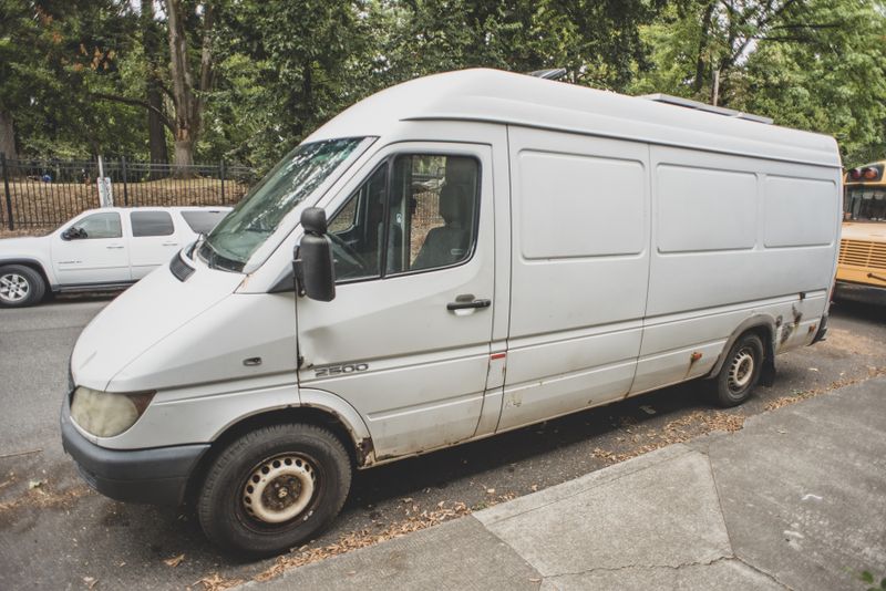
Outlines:
[{"label": "white SUV parked by the iron fence behind the van", "polygon": [[230,207],[89,209],[48,236],[0,240],[0,305],[124,289],[208,234]]}]

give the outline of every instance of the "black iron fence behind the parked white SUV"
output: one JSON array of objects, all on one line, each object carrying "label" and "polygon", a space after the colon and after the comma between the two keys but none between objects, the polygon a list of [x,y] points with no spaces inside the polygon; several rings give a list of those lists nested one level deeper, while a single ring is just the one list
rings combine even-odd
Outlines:
[{"label": "black iron fence behind the parked white SUV", "polygon": [[[225,162],[172,166],[126,158],[103,160],[113,205],[234,205],[258,180],[255,169]],[[0,228],[54,228],[100,207],[97,160],[7,159],[0,154]]]}]

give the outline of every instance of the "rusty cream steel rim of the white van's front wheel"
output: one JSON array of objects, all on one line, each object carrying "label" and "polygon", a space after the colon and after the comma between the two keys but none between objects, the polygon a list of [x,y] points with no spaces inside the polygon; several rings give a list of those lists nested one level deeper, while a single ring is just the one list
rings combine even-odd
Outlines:
[{"label": "rusty cream steel rim of the white van's front wheel", "polygon": [[286,454],[261,462],[243,487],[246,514],[279,525],[299,517],[317,491],[317,468],[303,456]]}]

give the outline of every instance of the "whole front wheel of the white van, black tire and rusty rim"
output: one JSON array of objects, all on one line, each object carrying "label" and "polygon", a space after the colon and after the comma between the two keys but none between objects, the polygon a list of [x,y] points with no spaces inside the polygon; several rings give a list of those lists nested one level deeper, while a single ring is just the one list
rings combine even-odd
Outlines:
[{"label": "whole front wheel of the white van, black tire and rusty rim", "polygon": [[[254,487],[254,481],[259,484]],[[197,516],[206,537],[223,548],[276,554],[326,528],[350,487],[351,462],[332,433],[316,425],[271,425],[235,439],[215,458],[199,491]],[[302,504],[285,521],[267,521]]]}]

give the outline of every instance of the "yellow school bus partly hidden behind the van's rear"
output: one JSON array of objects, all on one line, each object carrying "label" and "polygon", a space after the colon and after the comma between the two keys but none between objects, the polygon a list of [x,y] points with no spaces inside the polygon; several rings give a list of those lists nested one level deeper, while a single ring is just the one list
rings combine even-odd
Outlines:
[{"label": "yellow school bus partly hidden behind the van's rear", "polygon": [[886,304],[886,160],[847,170],[836,298]]}]

